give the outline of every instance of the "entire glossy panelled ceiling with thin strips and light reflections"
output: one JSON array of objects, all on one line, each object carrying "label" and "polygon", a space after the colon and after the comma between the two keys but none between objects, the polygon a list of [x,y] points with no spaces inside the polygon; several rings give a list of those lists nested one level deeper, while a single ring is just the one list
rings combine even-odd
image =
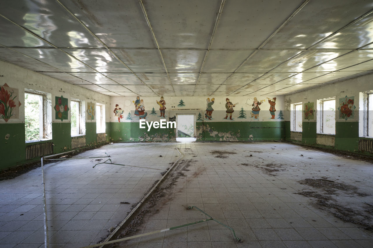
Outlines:
[{"label": "entire glossy panelled ceiling with thin strips and light reflections", "polygon": [[0,59],[109,96],[284,95],[373,72],[373,2],[1,0]]}]

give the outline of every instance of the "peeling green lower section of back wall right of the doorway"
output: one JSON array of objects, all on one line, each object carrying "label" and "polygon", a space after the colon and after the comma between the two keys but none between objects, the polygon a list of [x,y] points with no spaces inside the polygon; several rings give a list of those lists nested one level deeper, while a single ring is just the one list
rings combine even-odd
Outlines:
[{"label": "peeling green lower section of back wall right of the doorway", "polygon": [[285,138],[284,122],[197,122],[198,141],[269,141]]}]

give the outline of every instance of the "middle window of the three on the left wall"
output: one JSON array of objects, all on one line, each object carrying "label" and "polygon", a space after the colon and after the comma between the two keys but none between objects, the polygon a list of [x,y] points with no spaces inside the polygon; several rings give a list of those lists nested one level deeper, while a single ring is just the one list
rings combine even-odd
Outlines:
[{"label": "middle window of the three on the left wall", "polygon": [[82,112],[82,105],[84,102],[78,99],[71,99],[70,112],[71,112],[71,136],[85,134],[85,116]]}]

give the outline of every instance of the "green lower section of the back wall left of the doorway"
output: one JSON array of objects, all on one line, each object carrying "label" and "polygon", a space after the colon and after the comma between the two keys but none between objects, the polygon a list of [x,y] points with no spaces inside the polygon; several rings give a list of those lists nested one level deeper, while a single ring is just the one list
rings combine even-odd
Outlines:
[{"label": "green lower section of the back wall left of the doorway", "polygon": [[138,122],[110,122],[110,141],[175,141],[174,128],[142,129]]}]

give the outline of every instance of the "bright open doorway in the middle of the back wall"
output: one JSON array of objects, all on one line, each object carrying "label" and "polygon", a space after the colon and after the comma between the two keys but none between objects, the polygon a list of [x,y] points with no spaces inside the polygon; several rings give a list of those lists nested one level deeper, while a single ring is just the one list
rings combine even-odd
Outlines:
[{"label": "bright open doorway in the middle of the back wall", "polygon": [[176,115],[178,132],[176,141],[195,141],[195,115]]}]

